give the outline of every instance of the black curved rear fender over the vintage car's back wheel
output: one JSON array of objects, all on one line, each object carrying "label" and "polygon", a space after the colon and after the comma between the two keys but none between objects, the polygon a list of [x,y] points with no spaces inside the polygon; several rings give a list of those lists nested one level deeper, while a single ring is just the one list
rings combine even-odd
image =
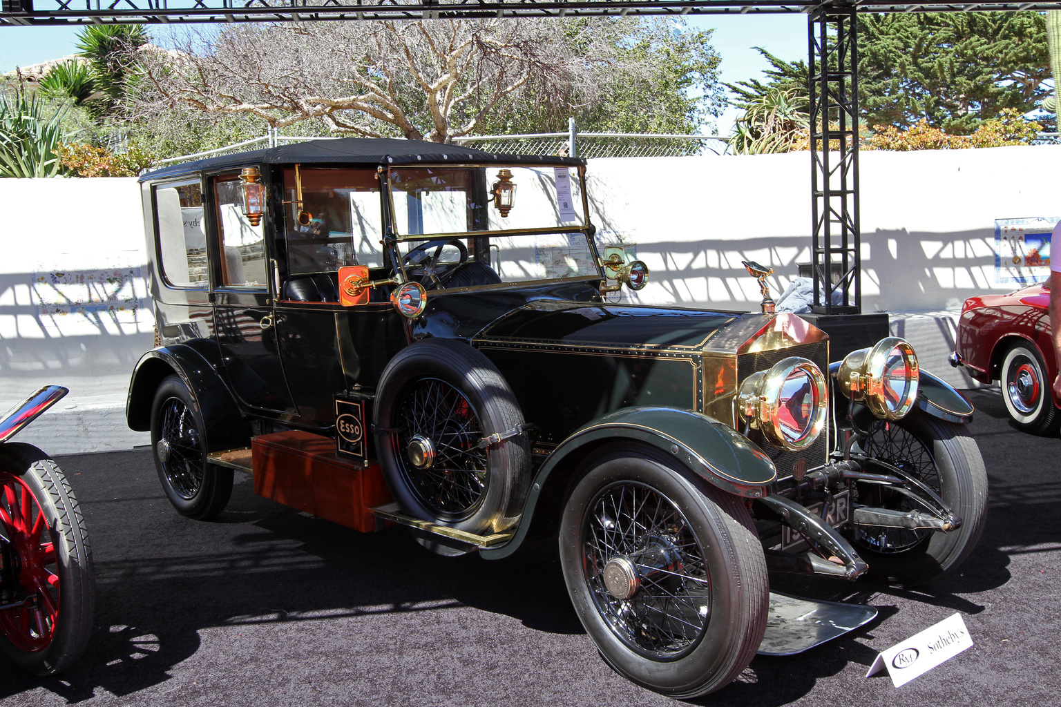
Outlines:
[{"label": "black curved rear fender over the vintage car's back wheel", "polygon": [[243,413],[222,381],[218,367],[187,343],[153,349],[137,361],[125,402],[125,420],[131,429],[151,429],[155,391],[162,379],[173,373],[180,376],[195,399],[206,428],[208,450],[231,449],[250,443]]}]

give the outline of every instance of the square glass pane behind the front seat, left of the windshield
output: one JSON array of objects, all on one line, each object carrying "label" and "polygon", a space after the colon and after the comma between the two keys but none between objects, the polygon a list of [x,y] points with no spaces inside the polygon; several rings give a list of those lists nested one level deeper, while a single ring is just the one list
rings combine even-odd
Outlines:
[{"label": "square glass pane behind the front seat, left of the windshield", "polygon": [[[375,169],[283,172],[288,268],[293,275],[383,265],[380,182]],[[299,218],[301,214],[301,218]]]}]

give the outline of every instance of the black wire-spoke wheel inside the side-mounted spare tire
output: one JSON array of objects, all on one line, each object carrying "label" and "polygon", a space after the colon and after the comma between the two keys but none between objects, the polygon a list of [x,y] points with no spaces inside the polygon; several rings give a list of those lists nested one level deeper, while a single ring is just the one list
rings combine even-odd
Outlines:
[{"label": "black wire-spoke wheel inside the side-mounted spare tire", "polygon": [[395,458],[410,490],[438,518],[464,520],[486,496],[489,473],[479,416],[445,381],[414,381],[399,405]]}]

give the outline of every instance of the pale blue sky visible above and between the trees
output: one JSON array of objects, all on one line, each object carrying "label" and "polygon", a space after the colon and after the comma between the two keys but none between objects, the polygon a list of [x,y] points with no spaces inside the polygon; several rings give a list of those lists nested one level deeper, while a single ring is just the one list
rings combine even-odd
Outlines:
[{"label": "pale blue sky visible above and between the trees", "polygon": [[[782,59],[806,59],[806,15],[708,15],[689,18],[698,29],[714,28],[712,43],[721,56],[721,81],[736,83],[761,78],[769,65],[752,50],[763,47]],[[79,26],[0,28],[0,73],[75,53]],[[717,122],[717,132],[728,135],[738,111],[729,108]]]}]

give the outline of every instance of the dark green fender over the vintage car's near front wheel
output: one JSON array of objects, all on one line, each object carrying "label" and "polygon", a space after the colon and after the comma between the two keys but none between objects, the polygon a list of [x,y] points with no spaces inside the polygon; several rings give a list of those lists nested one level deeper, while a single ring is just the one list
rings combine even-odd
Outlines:
[{"label": "dark green fender over the vintage car's near front wheel", "polygon": [[636,440],[656,446],[719,489],[747,498],[772,490],[777,470],[763,452],[735,429],[706,414],[669,407],[628,407],[597,418],[575,430],[538,470],[523,522],[505,545],[480,550],[486,559],[510,554],[522,543],[545,481],[572,453],[602,440]]}]

